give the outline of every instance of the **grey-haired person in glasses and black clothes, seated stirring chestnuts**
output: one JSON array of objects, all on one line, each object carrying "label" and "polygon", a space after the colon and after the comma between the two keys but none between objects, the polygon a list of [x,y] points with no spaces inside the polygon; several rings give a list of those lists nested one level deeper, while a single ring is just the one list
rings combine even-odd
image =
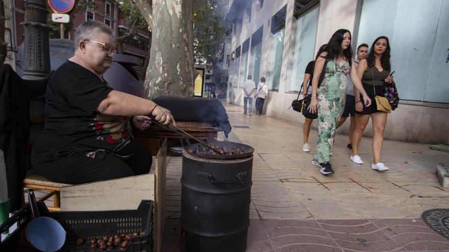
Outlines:
[{"label": "grey-haired person in glasses and black clothes, seated stirring chestnuts", "polygon": [[102,74],[115,52],[111,29],[89,20],[74,36],[75,54],[48,81],[45,126],[31,163],[45,178],[67,184],[141,175],[152,157],[136,143],[131,123],[144,130],[153,115],[174,124],[169,110],[151,100],[118,92]]}]

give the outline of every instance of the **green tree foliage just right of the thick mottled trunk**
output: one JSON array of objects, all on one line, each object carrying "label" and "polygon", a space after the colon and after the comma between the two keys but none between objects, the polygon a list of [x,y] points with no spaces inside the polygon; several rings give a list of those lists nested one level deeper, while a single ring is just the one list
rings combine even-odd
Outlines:
[{"label": "green tree foliage just right of the thick mottled trunk", "polygon": [[[227,0],[196,0],[193,14],[193,57],[216,61],[231,24],[224,22]],[[219,55],[218,55],[219,56]]]}]

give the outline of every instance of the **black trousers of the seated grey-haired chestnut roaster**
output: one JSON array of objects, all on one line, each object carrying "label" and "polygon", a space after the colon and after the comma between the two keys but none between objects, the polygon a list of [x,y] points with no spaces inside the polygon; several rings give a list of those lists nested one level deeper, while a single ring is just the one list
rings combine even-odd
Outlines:
[{"label": "black trousers of the seated grey-haired chestnut roaster", "polygon": [[38,163],[36,155],[31,155],[31,159],[36,173],[54,182],[72,185],[147,174],[153,160],[139,143],[136,143],[134,154],[127,160],[111,153],[103,159],[90,158],[81,153],[45,163]]}]

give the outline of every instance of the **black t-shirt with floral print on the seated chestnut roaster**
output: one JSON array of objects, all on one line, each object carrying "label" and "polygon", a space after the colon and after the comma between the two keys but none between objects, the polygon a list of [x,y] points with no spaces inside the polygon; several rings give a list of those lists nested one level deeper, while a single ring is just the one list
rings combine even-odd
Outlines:
[{"label": "black t-shirt with floral print on the seated chestnut roaster", "polygon": [[59,157],[70,154],[61,152],[62,148],[91,158],[102,158],[107,152],[132,155],[135,146],[129,117],[95,111],[112,90],[106,81],[77,63],[61,65],[48,81],[38,152],[53,157],[55,151]]}]

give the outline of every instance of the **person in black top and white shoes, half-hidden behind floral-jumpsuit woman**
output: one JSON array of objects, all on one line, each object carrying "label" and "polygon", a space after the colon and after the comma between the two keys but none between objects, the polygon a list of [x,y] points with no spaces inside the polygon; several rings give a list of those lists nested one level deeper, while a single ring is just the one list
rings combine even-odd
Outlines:
[{"label": "person in black top and white shoes, half-hidden behind floral-jumpsuit woman", "polygon": [[[315,60],[319,57],[319,54],[323,51],[323,49],[326,47],[327,44],[323,44],[316,53]],[[309,62],[306,67],[306,71],[304,72],[304,80],[303,80],[303,97],[307,95],[312,94],[312,77],[313,77],[313,67],[315,65],[315,61]],[[307,90],[307,93],[306,93]],[[306,94],[305,94],[306,93]],[[303,106],[304,106],[304,99],[303,99]],[[310,144],[309,144],[309,134],[310,134],[310,128],[312,126],[313,119],[304,117],[304,127],[303,127],[303,151],[304,152],[310,152]]]}]

